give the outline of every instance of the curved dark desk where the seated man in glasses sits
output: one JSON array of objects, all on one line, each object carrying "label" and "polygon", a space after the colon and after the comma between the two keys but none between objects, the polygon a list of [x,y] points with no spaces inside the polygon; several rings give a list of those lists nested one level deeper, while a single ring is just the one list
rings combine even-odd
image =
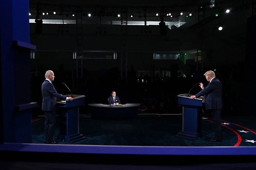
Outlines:
[{"label": "curved dark desk where the seated man in glasses sits", "polygon": [[139,103],[127,103],[122,106],[109,104],[88,104],[91,118],[134,118],[137,117]]}]

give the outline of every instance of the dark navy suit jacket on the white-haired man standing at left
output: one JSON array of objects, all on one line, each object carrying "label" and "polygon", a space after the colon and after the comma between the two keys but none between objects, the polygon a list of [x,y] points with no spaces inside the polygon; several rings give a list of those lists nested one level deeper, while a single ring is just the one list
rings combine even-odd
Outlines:
[{"label": "dark navy suit jacket on the white-haired man standing at left", "polygon": [[56,98],[66,100],[67,97],[60,95],[55,90],[53,84],[48,80],[45,80],[41,87],[43,95],[42,111],[55,111],[56,110]]}]

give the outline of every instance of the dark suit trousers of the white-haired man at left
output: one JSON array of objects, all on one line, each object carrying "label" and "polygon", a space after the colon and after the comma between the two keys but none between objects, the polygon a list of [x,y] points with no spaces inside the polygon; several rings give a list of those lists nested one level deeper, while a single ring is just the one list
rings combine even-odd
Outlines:
[{"label": "dark suit trousers of the white-haired man at left", "polygon": [[52,142],[55,133],[56,124],[56,112],[55,111],[44,111],[44,129],[45,129],[45,141]]}]

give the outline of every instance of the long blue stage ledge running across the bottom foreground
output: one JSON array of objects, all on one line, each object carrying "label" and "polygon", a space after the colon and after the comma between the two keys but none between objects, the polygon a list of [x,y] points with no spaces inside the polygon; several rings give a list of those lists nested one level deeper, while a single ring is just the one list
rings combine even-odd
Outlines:
[{"label": "long blue stage ledge running across the bottom foreground", "polygon": [[135,155],[256,155],[256,147],[162,147],[2,143],[0,151]]}]

